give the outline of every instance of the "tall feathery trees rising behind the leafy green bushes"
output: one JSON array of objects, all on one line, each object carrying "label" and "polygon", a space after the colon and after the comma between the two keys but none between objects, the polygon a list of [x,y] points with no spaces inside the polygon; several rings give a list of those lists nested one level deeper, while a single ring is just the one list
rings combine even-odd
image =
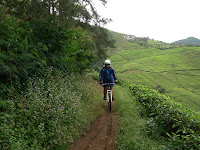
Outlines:
[{"label": "tall feathery trees rising behind the leafy green bushes", "polygon": [[36,19],[67,28],[81,26],[93,37],[94,51],[99,57],[105,56],[107,47],[113,47],[114,41],[102,28],[111,20],[99,16],[92,0],[2,0],[0,4],[7,8],[7,13],[24,21]]}]

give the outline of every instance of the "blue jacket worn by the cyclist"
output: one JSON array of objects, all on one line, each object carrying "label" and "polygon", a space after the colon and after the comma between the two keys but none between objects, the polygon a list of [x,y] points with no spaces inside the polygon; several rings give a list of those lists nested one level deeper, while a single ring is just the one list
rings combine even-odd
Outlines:
[{"label": "blue jacket worn by the cyclist", "polygon": [[100,81],[102,81],[103,79],[109,80],[113,78],[114,80],[117,80],[115,69],[111,66],[108,69],[103,66],[99,74]]}]

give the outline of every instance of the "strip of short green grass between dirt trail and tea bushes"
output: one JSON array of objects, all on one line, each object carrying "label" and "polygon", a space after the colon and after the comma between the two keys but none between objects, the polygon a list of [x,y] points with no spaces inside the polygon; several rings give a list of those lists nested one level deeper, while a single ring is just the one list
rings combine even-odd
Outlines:
[{"label": "strip of short green grass between dirt trail and tea bushes", "polygon": [[[163,137],[149,136],[144,108],[136,101],[131,92],[115,86],[116,107],[120,116],[118,149],[160,150],[167,145]],[[143,117],[142,117],[143,116]]]}]

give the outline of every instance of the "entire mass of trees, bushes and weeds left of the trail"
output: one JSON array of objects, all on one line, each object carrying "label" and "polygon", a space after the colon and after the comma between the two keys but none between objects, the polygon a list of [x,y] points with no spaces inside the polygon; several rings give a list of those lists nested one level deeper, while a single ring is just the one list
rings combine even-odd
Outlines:
[{"label": "entire mass of trees, bushes and weeds left of the trail", "polygon": [[83,72],[112,44],[108,20],[91,0],[2,0],[0,21],[0,149],[68,148],[98,114]]}]

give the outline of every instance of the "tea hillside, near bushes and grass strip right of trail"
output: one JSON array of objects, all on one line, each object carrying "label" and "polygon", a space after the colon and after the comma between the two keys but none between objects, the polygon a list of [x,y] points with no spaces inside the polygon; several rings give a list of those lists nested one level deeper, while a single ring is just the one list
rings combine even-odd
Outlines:
[{"label": "tea hillside, near bushes and grass strip right of trail", "polygon": [[[167,45],[150,39],[150,44],[144,46],[126,41],[122,34],[113,35],[116,42],[122,43],[109,53],[119,83],[143,106],[138,107],[128,97],[117,101],[121,117],[119,149],[199,149],[200,48]],[[126,45],[124,49],[123,45]],[[119,93],[124,93],[122,87]],[[145,134],[142,131],[147,135],[141,136]]]}]

